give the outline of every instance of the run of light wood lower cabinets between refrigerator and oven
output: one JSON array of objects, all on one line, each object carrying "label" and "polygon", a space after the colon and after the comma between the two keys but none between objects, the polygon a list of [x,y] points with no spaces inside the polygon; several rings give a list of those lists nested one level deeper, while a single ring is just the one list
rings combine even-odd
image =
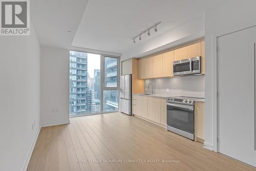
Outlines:
[{"label": "run of light wood lower cabinets between refrigerator and oven", "polygon": [[165,98],[133,95],[133,114],[155,124],[166,126]]}]

